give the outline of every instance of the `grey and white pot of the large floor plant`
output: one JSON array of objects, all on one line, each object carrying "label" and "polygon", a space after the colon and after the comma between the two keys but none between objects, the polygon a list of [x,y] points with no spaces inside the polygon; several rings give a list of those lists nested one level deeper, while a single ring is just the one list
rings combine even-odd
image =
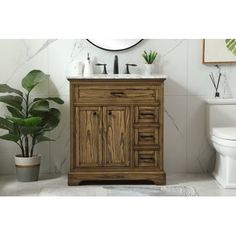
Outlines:
[{"label": "grey and white pot of the large floor plant", "polygon": [[38,181],[41,156],[15,156],[16,178],[20,182]]}]

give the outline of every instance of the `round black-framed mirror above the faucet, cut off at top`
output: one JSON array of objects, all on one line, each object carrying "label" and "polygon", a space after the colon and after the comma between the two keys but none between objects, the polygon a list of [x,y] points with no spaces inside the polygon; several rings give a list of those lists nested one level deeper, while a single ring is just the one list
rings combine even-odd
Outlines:
[{"label": "round black-framed mirror above the faucet, cut off at top", "polygon": [[87,39],[94,46],[108,51],[122,51],[132,48],[142,39]]}]

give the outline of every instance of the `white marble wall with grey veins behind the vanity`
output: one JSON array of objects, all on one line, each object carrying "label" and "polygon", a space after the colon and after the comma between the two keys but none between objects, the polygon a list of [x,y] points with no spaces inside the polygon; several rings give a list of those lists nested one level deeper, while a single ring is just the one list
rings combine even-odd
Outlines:
[{"label": "white marble wall with grey veins behind the vanity", "polygon": [[[113,53],[103,51],[86,40],[0,40],[0,83],[20,88],[21,78],[31,69],[51,75],[47,84],[35,92],[44,96],[61,96],[65,104],[59,127],[50,133],[55,142],[42,143],[42,172],[66,173],[69,169],[69,87],[68,64],[84,61],[87,52],[95,62],[107,63],[112,71],[114,55],[119,55],[120,68],[136,63],[133,73],[142,73],[143,50],[159,52],[156,72],[169,78],[165,84],[165,170],[173,172],[206,172],[212,168],[214,151],[206,138],[205,99],[214,94],[208,74],[216,69],[201,63],[202,40],[143,40],[135,48]],[[222,96],[236,96],[236,66],[222,67]],[[99,72],[99,69],[96,69]],[[0,116],[5,109],[0,104]],[[0,131],[3,133],[3,131]],[[0,140],[0,173],[14,172],[13,143]]]}]

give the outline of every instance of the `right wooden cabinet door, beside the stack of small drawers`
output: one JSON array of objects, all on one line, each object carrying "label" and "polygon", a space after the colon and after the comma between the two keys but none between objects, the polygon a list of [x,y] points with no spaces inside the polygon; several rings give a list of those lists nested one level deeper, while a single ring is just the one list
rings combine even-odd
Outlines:
[{"label": "right wooden cabinet door, beside the stack of small drawers", "polygon": [[130,108],[104,107],[105,166],[130,166]]}]

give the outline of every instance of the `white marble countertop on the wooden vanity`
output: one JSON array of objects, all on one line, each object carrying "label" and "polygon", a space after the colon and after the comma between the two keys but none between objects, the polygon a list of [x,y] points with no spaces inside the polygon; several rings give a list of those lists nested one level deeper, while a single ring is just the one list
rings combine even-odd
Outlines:
[{"label": "white marble countertop on the wooden vanity", "polygon": [[166,75],[153,74],[153,75],[141,75],[141,74],[94,74],[91,76],[67,76],[67,79],[167,79]]}]

